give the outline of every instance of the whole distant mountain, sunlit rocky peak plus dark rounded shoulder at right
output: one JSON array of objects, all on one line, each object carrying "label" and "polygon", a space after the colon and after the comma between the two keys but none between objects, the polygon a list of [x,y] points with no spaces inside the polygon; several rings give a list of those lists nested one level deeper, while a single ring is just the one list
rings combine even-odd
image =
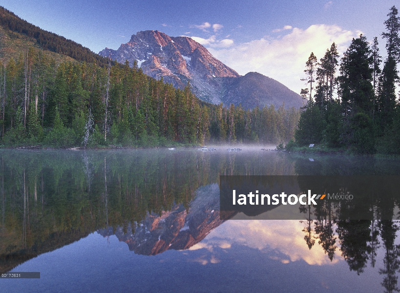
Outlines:
[{"label": "whole distant mountain, sunlit rocky peak plus dark rounded shoulder at right", "polygon": [[240,76],[214,58],[200,43],[189,37],[169,37],[159,31],[141,31],[118,50],[105,48],[99,54],[130,66],[157,80],[183,89],[188,81],[201,100],[213,104],[239,105],[245,109],[283,103],[286,107],[303,105],[300,95],[285,85],[256,72]]}]

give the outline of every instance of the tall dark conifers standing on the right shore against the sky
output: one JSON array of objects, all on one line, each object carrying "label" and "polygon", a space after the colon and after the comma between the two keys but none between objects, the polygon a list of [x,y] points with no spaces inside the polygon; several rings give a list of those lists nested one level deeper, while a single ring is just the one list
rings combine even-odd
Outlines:
[{"label": "tall dark conifers standing on the right shore against the sky", "polygon": [[311,53],[303,79],[309,87],[301,90],[309,101],[289,148],[321,144],[357,153],[400,152],[400,106],[396,97],[400,18],[395,6],[387,16],[386,32],[381,35],[387,50],[383,68],[377,37],[371,44],[363,35],[353,39],[340,64],[335,43],[319,62]]}]

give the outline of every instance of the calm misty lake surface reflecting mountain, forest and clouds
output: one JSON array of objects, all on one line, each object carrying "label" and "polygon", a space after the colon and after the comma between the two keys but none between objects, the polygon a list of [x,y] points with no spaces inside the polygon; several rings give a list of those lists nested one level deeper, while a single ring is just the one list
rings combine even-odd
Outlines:
[{"label": "calm misty lake surface reflecting mountain, forest and clouds", "polygon": [[[400,160],[258,147],[0,150],[0,172],[0,271],[41,272],[0,279],[0,292],[400,287],[397,221],[222,221],[218,187],[219,175],[399,175]],[[396,214],[399,200],[389,206]]]}]

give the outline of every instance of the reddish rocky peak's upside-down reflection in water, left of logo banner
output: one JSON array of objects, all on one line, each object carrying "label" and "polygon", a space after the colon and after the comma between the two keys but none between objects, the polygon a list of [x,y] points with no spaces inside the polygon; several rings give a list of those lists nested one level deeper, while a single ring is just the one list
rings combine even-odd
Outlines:
[{"label": "reddish rocky peak's upside-down reflection in water, left of logo banner", "polygon": [[128,223],[98,230],[103,236],[115,234],[138,254],[155,255],[168,249],[185,250],[203,240],[222,224],[219,219],[219,187],[211,184],[196,191],[189,208],[175,205],[160,215],[151,213],[140,223]]}]

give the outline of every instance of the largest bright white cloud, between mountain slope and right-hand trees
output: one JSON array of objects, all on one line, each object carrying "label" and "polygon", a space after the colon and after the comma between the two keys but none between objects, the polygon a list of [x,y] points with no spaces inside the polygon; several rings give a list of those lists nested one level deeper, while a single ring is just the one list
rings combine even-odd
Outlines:
[{"label": "largest bright white cloud, between mountain slope and right-hand trees", "polygon": [[[285,27],[289,30],[290,26]],[[337,25],[314,24],[307,29],[292,28],[292,31],[280,38],[265,37],[239,44],[234,44],[232,40],[224,41],[225,47],[222,45],[223,40],[217,41],[215,36],[193,39],[206,46],[215,58],[239,74],[257,71],[300,93],[300,89],[305,87],[300,79],[305,77],[303,70],[311,52],[319,60],[335,42],[339,54],[342,54],[352,38],[357,38],[359,33],[344,30]]]}]

